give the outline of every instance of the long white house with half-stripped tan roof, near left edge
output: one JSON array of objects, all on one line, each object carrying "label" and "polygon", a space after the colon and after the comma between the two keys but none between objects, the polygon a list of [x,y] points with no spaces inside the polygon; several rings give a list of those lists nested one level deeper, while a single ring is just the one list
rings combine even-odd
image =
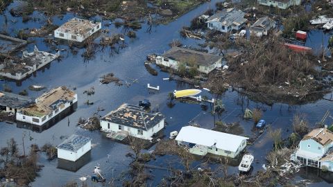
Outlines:
[{"label": "long white house with half-stripped tan roof, near left edge", "polygon": [[77,107],[78,96],[67,87],[58,87],[35,99],[35,104],[16,114],[17,127],[42,132],[65,118]]}]

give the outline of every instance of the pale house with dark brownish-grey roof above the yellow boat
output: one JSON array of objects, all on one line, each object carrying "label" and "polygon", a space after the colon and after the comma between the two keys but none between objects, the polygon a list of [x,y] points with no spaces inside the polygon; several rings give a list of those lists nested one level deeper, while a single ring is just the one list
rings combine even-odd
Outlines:
[{"label": "pale house with dark brownish-grey roof above the yellow boat", "polygon": [[185,63],[187,69],[196,66],[200,73],[210,73],[216,68],[221,68],[222,57],[180,47],[173,47],[156,57],[156,64],[172,69],[177,70],[180,63]]}]

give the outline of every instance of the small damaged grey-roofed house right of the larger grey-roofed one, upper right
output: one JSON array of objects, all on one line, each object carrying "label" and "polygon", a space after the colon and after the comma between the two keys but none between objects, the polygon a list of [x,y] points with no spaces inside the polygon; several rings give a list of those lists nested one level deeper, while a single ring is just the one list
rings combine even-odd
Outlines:
[{"label": "small damaged grey-roofed house right of the larger grey-roofed one, upper right", "polygon": [[250,26],[249,30],[252,35],[257,37],[262,37],[263,35],[268,35],[268,31],[275,28],[275,21],[269,17],[261,17],[255,24]]}]

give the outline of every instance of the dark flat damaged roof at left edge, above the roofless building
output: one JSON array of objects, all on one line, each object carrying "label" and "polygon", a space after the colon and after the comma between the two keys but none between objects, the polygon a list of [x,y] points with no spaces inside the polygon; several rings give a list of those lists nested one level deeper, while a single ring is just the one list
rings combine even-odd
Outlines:
[{"label": "dark flat damaged roof at left edge, above the roofless building", "polygon": [[26,40],[0,35],[0,54],[8,55],[26,44]]}]

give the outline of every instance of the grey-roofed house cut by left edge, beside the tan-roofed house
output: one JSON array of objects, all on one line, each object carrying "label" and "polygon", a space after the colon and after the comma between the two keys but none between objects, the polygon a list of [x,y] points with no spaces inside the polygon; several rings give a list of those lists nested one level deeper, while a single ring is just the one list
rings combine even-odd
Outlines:
[{"label": "grey-roofed house cut by left edge, beside the tan-roofed house", "polygon": [[22,108],[28,107],[34,103],[35,100],[27,96],[12,94],[6,91],[0,92],[0,109],[4,112],[16,114],[16,112],[19,112]]}]

